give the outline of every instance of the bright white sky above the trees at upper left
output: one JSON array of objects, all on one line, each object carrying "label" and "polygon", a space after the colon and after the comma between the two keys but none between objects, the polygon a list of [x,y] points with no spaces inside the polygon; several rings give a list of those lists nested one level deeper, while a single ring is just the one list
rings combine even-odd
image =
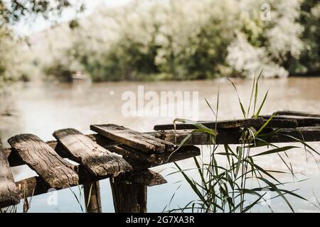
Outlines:
[{"label": "bright white sky above the trees at upper left", "polygon": [[[75,1],[75,0],[74,0]],[[80,16],[88,16],[92,12],[97,9],[97,7],[105,6],[105,7],[115,7],[122,6],[124,4],[128,4],[132,0],[83,0],[85,2],[86,11],[82,13]],[[58,22],[70,21],[75,18],[76,13],[73,9],[67,9],[64,11],[61,18],[58,18]],[[36,33],[38,31],[42,31],[51,26],[50,21],[46,21],[45,19],[38,17],[34,21],[21,21],[16,24],[14,28],[14,32],[18,35],[31,35],[32,33]]]}]

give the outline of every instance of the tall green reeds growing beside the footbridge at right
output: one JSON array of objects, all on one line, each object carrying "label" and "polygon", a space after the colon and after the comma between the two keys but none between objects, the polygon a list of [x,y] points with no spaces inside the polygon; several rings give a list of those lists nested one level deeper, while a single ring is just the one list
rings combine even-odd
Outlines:
[{"label": "tall green reeds growing beside the footbridge at right", "polygon": [[[267,94],[260,105],[257,105],[257,89],[258,81],[260,75],[253,79],[252,92],[250,96],[250,104],[247,107],[247,112],[245,112],[245,107],[240,101],[240,108],[245,117],[252,113],[252,117],[259,115],[262,106],[265,103]],[[232,82],[231,82],[232,83]],[[233,84],[235,90],[237,88]],[[207,101],[208,104],[208,101]],[[253,105],[253,109],[250,108]],[[218,100],[217,108],[214,110],[210,104],[208,104],[211,111],[215,116],[215,121],[217,121],[218,116]],[[255,111],[255,106],[259,106],[257,111]],[[252,109],[252,111],[250,111]],[[191,187],[196,199],[190,201],[186,206],[182,206],[178,209],[170,209],[169,212],[175,211],[191,211],[191,212],[203,212],[203,213],[215,213],[215,212],[250,212],[252,208],[263,204],[267,204],[269,209],[272,211],[272,206],[270,206],[270,200],[274,198],[283,199],[284,203],[289,206],[289,209],[294,212],[294,208],[290,203],[288,196],[293,196],[297,199],[304,199],[299,194],[295,193],[296,190],[285,189],[286,184],[289,182],[280,182],[279,179],[274,175],[279,174],[290,174],[293,179],[298,179],[296,173],[292,168],[292,164],[289,160],[288,153],[290,150],[298,149],[297,146],[287,145],[279,147],[275,144],[268,143],[267,138],[270,136],[279,135],[279,131],[274,130],[270,133],[261,133],[263,128],[270,123],[270,120],[274,115],[266,121],[265,125],[259,129],[255,128],[240,128],[241,138],[240,145],[235,149],[232,149],[229,145],[223,145],[223,151],[218,150],[219,145],[215,144],[216,128],[207,128],[201,123],[189,121],[186,119],[176,119],[178,122],[182,123],[193,123],[197,129],[192,131],[189,135],[179,145],[179,148],[186,143],[186,140],[196,133],[207,133],[210,140],[208,141],[208,148],[210,149],[210,154],[208,155],[208,161],[206,161],[206,155],[201,157],[194,157],[194,168],[188,170],[182,170],[182,168],[175,163],[176,173],[181,173],[183,178],[186,180],[189,187]],[[291,135],[287,135],[292,137]],[[304,149],[306,153],[311,155],[320,155],[316,150],[311,148],[310,145],[306,144],[303,140],[295,138],[297,142],[302,144],[302,150]],[[210,145],[209,145],[210,144]],[[265,151],[260,153],[252,153],[254,148],[266,148]],[[278,171],[278,170],[266,170],[257,164],[255,157],[268,155],[278,155],[280,160],[284,162],[287,166],[288,171]],[[221,159],[220,157],[223,157]],[[285,157],[288,157],[287,159]],[[196,177],[191,177],[188,175],[188,171],[194,170],[196,172]],[[304,180],[304,179],[302,179]],[[302,181],[299,180],[299,181]],[[253,183],[253,184],[252,184]],[[266,194],[268,193],[268,196]],[[172,201],[172,199],[171,199]],[[171,202],[170,201],[170,202]]]}]

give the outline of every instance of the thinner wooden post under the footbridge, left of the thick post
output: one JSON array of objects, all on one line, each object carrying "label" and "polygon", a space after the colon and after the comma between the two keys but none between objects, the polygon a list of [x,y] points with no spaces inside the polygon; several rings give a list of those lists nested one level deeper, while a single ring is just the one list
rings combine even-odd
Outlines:
[{"label": "thinner wooden post under the footbridge, left of the thick post", "polygon": [[86,182],[83,184],[85,193],[85,208],[87,213],[102,213],[99,182]]}]

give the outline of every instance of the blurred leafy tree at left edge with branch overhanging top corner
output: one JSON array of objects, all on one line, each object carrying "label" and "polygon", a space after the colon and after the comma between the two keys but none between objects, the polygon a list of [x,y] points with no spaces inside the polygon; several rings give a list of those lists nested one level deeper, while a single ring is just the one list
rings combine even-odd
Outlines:
[{"label": "blurred leafy tree at left edge with branch overhanging top corner", "polygon": [[[82,1],[70,0],[0,0],[0,82],[9,80],[28,80],[33,74],[35,62],[33,53],[28,51],[28,43],[18,38],[10,28],[19,21],[32,20],[42,16],[52,20],[63,10],[73,8],[83,11]],[[74,21],[70,26],[75,26]]]}]

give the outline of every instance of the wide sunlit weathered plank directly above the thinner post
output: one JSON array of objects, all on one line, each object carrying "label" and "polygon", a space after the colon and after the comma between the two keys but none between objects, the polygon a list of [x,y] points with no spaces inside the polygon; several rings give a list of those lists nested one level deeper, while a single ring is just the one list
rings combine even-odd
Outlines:
[{"label": "wide sunlit weathered plank directly above the thinner post", "polygon": [[65,128],[53,133],[58,143],[68,150],[74,160],[80,162],[92,175],[116,176],[132,170],[122,157],[97,145],[94,141],[74,128]]}]

